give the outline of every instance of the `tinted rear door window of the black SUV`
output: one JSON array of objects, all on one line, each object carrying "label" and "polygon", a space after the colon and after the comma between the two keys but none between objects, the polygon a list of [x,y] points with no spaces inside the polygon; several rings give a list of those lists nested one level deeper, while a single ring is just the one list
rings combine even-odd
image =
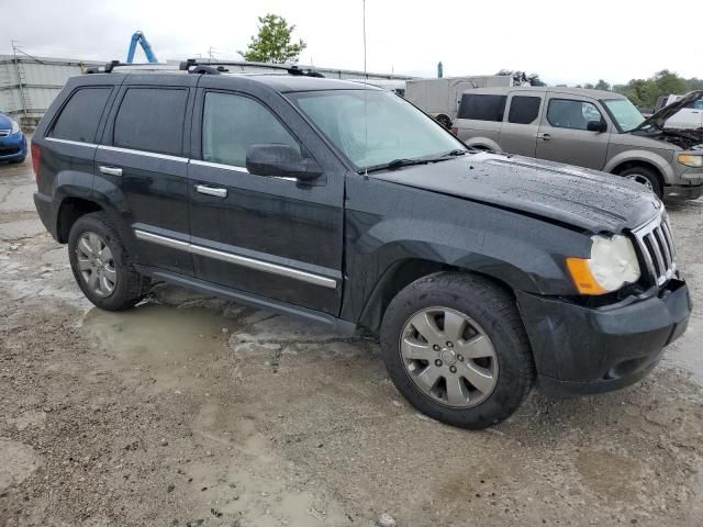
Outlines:
[{"label": "tinted rear door window of the black SUV", "polygon": [[129,88],[114,120],[114,146],[179,156],[188,90]]}]

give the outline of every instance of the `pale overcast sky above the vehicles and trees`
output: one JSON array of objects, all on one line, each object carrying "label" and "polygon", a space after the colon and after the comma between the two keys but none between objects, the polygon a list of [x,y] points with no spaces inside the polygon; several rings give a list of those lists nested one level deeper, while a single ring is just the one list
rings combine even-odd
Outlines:
[{"label": "pale overcast sky above the vehicles and trees", "polygon": [[[361,0],[0,0],[0,54],[16,40],[33,55],[124,59],[142,30],[160,60],[210,48],[238,59],[267,12],[297,25],[302,64],[362,69]],[[445,76],[507,68],[550,83],[703,77],[700,14],[700,0],[367,0],[368,70],[434,76],[442,60]]]}]

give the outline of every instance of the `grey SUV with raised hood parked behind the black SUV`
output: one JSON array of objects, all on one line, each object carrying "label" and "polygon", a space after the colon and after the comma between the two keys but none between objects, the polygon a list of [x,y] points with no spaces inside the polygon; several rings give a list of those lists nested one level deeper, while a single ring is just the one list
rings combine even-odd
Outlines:
[{"label": "grey SUV with raised hood parked behind the black SUV", "polygon": [[467,145],[593,168],[659,197],[703,194],[703,130],[666,122],[703,98],[693,91],[645,119],[610,91],[512,87],[465,92],[453,132]]}]

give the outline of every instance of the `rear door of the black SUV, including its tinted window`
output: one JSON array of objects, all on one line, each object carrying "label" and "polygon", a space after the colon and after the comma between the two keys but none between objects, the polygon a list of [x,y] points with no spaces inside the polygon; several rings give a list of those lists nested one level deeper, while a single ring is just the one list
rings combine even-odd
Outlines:
[{"label": "rear door of the black SUV, including its tinted window", "polygon": [[111,201],[137,239],[135,260],[189,276],[192,257],[179,244],[190,240],[185,152],[197,78],[165,86],[163,76],[129,76],[96,154],[97,189],[119,189]]}]

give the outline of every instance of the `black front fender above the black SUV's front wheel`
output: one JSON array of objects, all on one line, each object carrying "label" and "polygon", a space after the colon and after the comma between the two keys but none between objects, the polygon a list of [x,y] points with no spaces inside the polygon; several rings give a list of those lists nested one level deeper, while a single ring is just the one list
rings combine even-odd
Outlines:
[{"label": "black front fender above the black SUV's front wheel", "polygon": [[590,255],[590,237],[579,231],[461,198],[378,180],[352,180],[347,194],[342,317],[352,322],[409,260],[558,295],[576,293],[566,256]]}]

